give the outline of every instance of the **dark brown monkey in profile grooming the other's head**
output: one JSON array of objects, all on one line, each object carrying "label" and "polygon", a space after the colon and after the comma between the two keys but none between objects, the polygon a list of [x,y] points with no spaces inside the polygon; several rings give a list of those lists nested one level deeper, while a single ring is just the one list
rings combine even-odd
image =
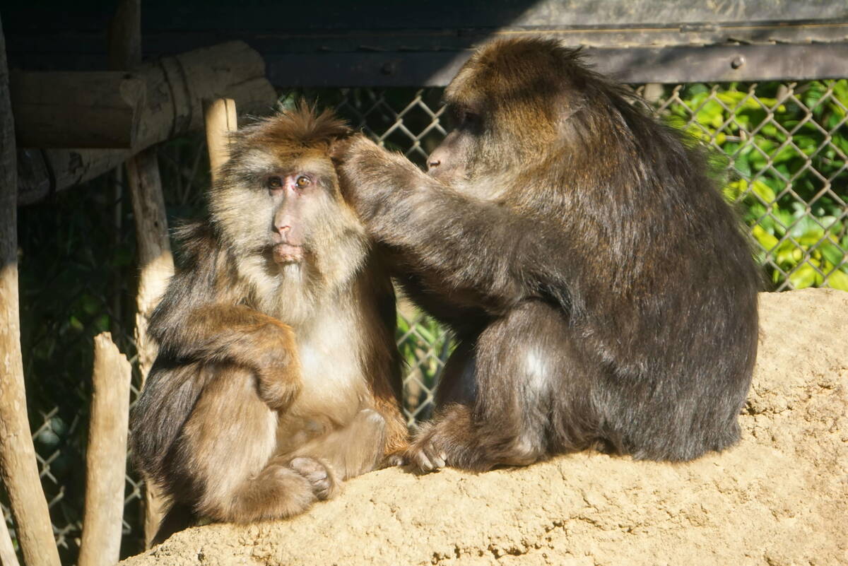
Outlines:
[{"label": "dark brown monkey in profile grooming the other's head", "polygon": [[547,38],[484,45],[444,100],[457,125],[427,173],[364,136],[333,153],[400,286],[457,342],[411,469],[732,446],[761,276],[707,150]]}]

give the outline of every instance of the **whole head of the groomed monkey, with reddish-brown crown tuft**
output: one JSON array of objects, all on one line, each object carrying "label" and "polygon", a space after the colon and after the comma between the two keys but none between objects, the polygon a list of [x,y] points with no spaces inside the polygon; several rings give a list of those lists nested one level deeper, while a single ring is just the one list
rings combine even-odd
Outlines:
[{"label": "whole head of the groomed monkey, with reddish-brown crown tuft", "polygon": [[365,230],[344,203],[329,158],[350,130],[330,111],[301,103],[238,130],[209,208],[237,261],[265,276],[332,280],[360,264]]}]

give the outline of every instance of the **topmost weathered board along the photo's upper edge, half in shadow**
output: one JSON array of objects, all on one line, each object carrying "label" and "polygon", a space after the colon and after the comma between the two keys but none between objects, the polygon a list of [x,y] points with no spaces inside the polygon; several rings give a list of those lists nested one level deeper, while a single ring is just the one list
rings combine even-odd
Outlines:
[{"label": "topmost weathered board along the photo's upper edge, half in shadow", "polygon": [[[98,31],[105,29],[99,3],[64,10],[61,0],[8,3],[10,30]],[[428,0],[403,3],[373,0],[323,0],[314,3],[251,2],[234,10],[227,0],[145,3],[145,40],[157,31],[216,31],[232,37],[240,31],[349,31],[502,28],[508,25],[681,25],[752,24],[848,17],[844,0]],[[316,17],[316,15],[318,17]],[[218,40],[220,41],[220,40]],[[43,48],[43,47],[42,47]]]}]

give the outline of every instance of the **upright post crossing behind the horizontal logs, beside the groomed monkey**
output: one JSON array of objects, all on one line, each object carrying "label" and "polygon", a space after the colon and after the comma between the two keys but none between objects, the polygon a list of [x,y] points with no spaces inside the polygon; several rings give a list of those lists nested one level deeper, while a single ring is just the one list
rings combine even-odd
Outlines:
[{"label": "upright post crossing behind the horizontal logs, beside the groomed monkey", "polygon": [[[135,69],[142,62],[142,26],[140,0],[118,0],[109,28],[109,63],[116,69]],[[148,336],[148,321],[153,308],[165,293],[174,274],[170,252],[165,197],[159,177],[156,148],[149,147],[126,161],[126,180],[130,186],[132,212],[136,219],[137,262],[140,270],[136,295],[136,346],[142,388],[156,360],[157,348]],[[164,502],[152,484],[144,491],[144,542],[150,547],[159,530]]]}]

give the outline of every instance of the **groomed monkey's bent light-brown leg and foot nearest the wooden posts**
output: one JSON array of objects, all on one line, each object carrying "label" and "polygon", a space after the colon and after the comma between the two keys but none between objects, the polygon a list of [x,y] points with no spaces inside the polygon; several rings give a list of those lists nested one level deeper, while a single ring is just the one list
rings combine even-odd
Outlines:
[{"label": "groomed monkey's bent light-brown leg and foot nearest the wooden posts", "polygon": [[254,373],[219,366],[182,431],[177,458],[198,515],[249,522],[302,513],[334,483],[308,458],[274,458],[276,412],[257,395]]}]

